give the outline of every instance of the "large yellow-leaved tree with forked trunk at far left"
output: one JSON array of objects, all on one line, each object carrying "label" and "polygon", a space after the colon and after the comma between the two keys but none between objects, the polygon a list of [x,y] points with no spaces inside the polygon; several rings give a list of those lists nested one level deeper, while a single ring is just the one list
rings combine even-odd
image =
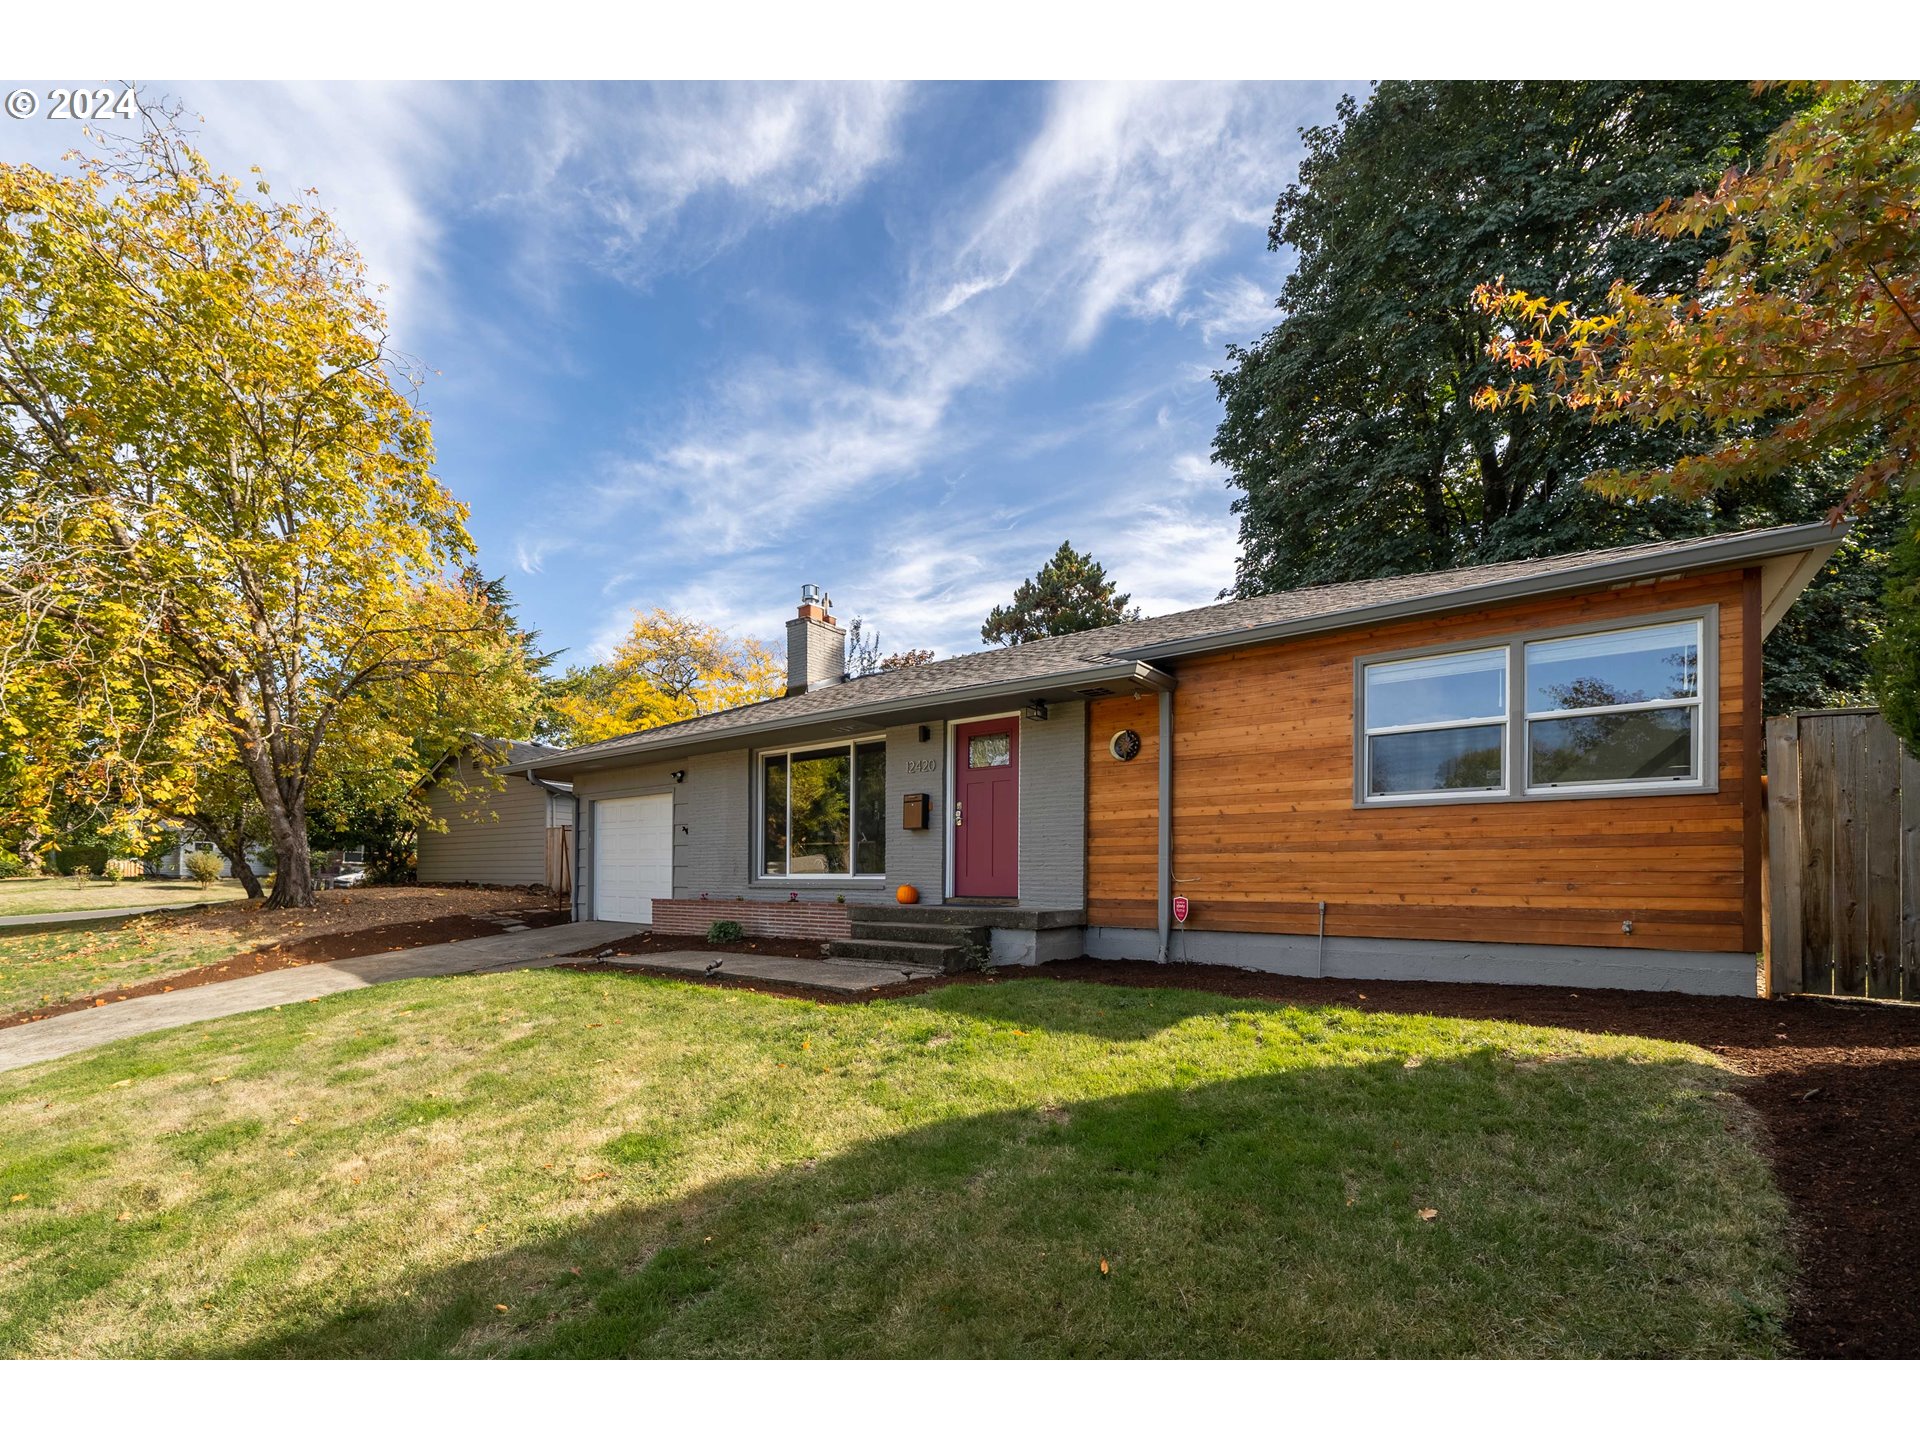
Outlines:
[{"label": "large yellow-leaved tree with forked trunk at far left", "polygon": [[309,904],[317,780],[524,733],[536,657],[351,244],[144,119],[0,165],[0,770],[129,826],[244,785]]}]

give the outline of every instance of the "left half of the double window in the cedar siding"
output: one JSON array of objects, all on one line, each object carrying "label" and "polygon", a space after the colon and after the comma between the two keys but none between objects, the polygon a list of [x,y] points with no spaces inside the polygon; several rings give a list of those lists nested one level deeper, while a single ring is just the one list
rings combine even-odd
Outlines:
[{"label": "left half of the double window in the cedar siding", "polygon": [[1509,668],[1505,645],[1363,666],[1363,793],[1505,793]]}]

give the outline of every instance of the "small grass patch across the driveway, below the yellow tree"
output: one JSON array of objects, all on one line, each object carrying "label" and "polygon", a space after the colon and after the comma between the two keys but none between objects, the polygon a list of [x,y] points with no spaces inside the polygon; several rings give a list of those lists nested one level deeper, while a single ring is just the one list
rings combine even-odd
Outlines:
[{"label": "small grass patch across the driveway, below the yellow tree", "polygon": [[194,970],[232,950],[232,939],[217,931],[119,920],[38,933],[0,929],[0,1016]]}]

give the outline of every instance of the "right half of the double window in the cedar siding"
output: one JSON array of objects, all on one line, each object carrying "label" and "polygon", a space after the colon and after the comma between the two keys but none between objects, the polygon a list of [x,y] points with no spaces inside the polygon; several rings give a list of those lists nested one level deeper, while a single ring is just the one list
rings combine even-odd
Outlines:
[{"label": "right half of the double window in the cedar siding", "polygon": [[1703,766],[1701,622],[1526,645],[1526,787],[1693,785]]}]

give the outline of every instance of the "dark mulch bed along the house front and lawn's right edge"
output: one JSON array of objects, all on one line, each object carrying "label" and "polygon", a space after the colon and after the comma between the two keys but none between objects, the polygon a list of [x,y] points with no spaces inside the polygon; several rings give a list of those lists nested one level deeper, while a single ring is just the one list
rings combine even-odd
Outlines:
[{"label": "dark mulch bed along the house front and lawn's right edge", "polygon": [[[668,943],[672,941],[672,943]],[[768,954],[818,954],[795,945]],[[660,937],[653,950],[743,948]],[[624,943],[620,952],[643,952]],[[618,966],[580,966],[618,970]],[[634,973],[634,972],[624,972]],[[1772,1142],[1774,1177],[1793,1208],[1799,1290],[1788,1334],[1812,1357],[1920,1357],[1920,1006],[1845,1000],[1734,1000],[1540,985],[1444,985],[1265,975],[1231,966],[1060,960],[1039,970],[945,975],[868,995],[714,977],[826,1004],[864,1004],[996,977],[1077,979],[1142,989],[1200,989],[1283,1004],[1340,1004],[1392,1014],[1509,1020],[1596,1035],[1647,1035],[1713,1050],[1749,1077],[1741,1094]],[[674,975],[685,979],[685,975]]]}]

